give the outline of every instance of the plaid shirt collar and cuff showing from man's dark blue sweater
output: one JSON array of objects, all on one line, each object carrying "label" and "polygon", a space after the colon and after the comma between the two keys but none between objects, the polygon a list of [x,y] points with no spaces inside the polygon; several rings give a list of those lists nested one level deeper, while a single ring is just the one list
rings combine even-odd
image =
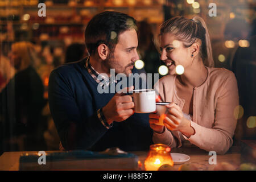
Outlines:
[{"label": "plaid shirt collar and cuff showing from man's dark blue sweater", "polygon": [[[88,73],[90,74],[90,76],[93,77],[93,79],[100,84],[100,86],[104,89],[105,86],[109,86],[110,83],[112,83],[113,81],[116,82],[115,80],[110,81],[109,77],[105,77],[103,75],[100,75],[100,73],[98,73],[90,64],[90,57],[88,56],[86,63],[85,63],[85,69],[88,71]],[[101,82],[101,80],[105,80],[104,82]],[[108,122],[106,122],[106,119],[104,117],[104,114],[102,112],[102,108],[97,110],[97,117],[98,119],[100,119],[102,125],[104,127],[106,127],[106,129],[110,129],[113,126],[113,123],[111,123],[111,125],[109,125]]]}]

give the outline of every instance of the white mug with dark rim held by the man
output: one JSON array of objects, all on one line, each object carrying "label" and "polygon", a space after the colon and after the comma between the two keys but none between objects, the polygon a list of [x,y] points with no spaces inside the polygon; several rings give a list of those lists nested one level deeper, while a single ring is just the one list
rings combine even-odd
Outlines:
[{"label": "white mug with dark rim held by the man", "polygon": [[152,113],[155,111],[155,90],[133,90],[135,113]]}]

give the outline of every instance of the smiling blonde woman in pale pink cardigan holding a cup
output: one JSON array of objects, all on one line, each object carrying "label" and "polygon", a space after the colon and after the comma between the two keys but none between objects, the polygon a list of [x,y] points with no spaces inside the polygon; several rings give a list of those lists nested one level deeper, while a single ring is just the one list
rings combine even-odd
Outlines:
[{"label": "smiling blonde woman in pale pink cardigan holding a cup", "polygon": [[[239,105],[237,81],[227,69],[213,68],[204,20],[175,17],[164,22],[160,52],[169,75],[155,89],[161,101],[171,104],[164,126],[155,125],[159,115],[150,114],[154,143],[181,147],[188,140],[203,150],[225,154],[233,144],[237,123],[233,115]],[[183,66],[182,75],[177,75],[177,65]]]}]

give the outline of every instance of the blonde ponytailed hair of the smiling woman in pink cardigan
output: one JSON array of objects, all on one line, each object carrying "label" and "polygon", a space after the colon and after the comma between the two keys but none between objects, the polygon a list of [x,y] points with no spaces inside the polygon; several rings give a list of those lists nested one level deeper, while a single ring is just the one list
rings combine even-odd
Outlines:
[{"label": "blonde ponytailed hair of the smiling woman in pink cardigan", "polygon": [[168,19],[161,24],[160,35],[169,32],[181,40],[185,47],[190,47],[197,40],[201,40],[200,57],[203,59],[205,66],[214,67],[210,36],[203,18],[195,16],[192,19],[187,19],[176,16]]}]

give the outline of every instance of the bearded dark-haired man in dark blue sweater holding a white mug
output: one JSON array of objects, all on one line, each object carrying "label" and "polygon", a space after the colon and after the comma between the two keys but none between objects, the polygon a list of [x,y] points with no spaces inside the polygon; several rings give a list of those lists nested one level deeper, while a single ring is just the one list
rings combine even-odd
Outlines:
[{"label": "bearded dark-haired man in dark blue sweater holding a white mug", "polygon": [[[134,102],[124,93],[99,93],[98,85],[110,68],[115,73],[134,68],[138,38],[134,18],[113,11],[93,17],[85,30],[89,57],[55,69],[49,77],[49,106],[65,150],[147,150],[152,143],[148,114],[134,113]],[[102,79],[99,79],[102,78]],[[117,84],[108,80],[102,87]],[[133,86],[127,88],[128,91]]]}]

